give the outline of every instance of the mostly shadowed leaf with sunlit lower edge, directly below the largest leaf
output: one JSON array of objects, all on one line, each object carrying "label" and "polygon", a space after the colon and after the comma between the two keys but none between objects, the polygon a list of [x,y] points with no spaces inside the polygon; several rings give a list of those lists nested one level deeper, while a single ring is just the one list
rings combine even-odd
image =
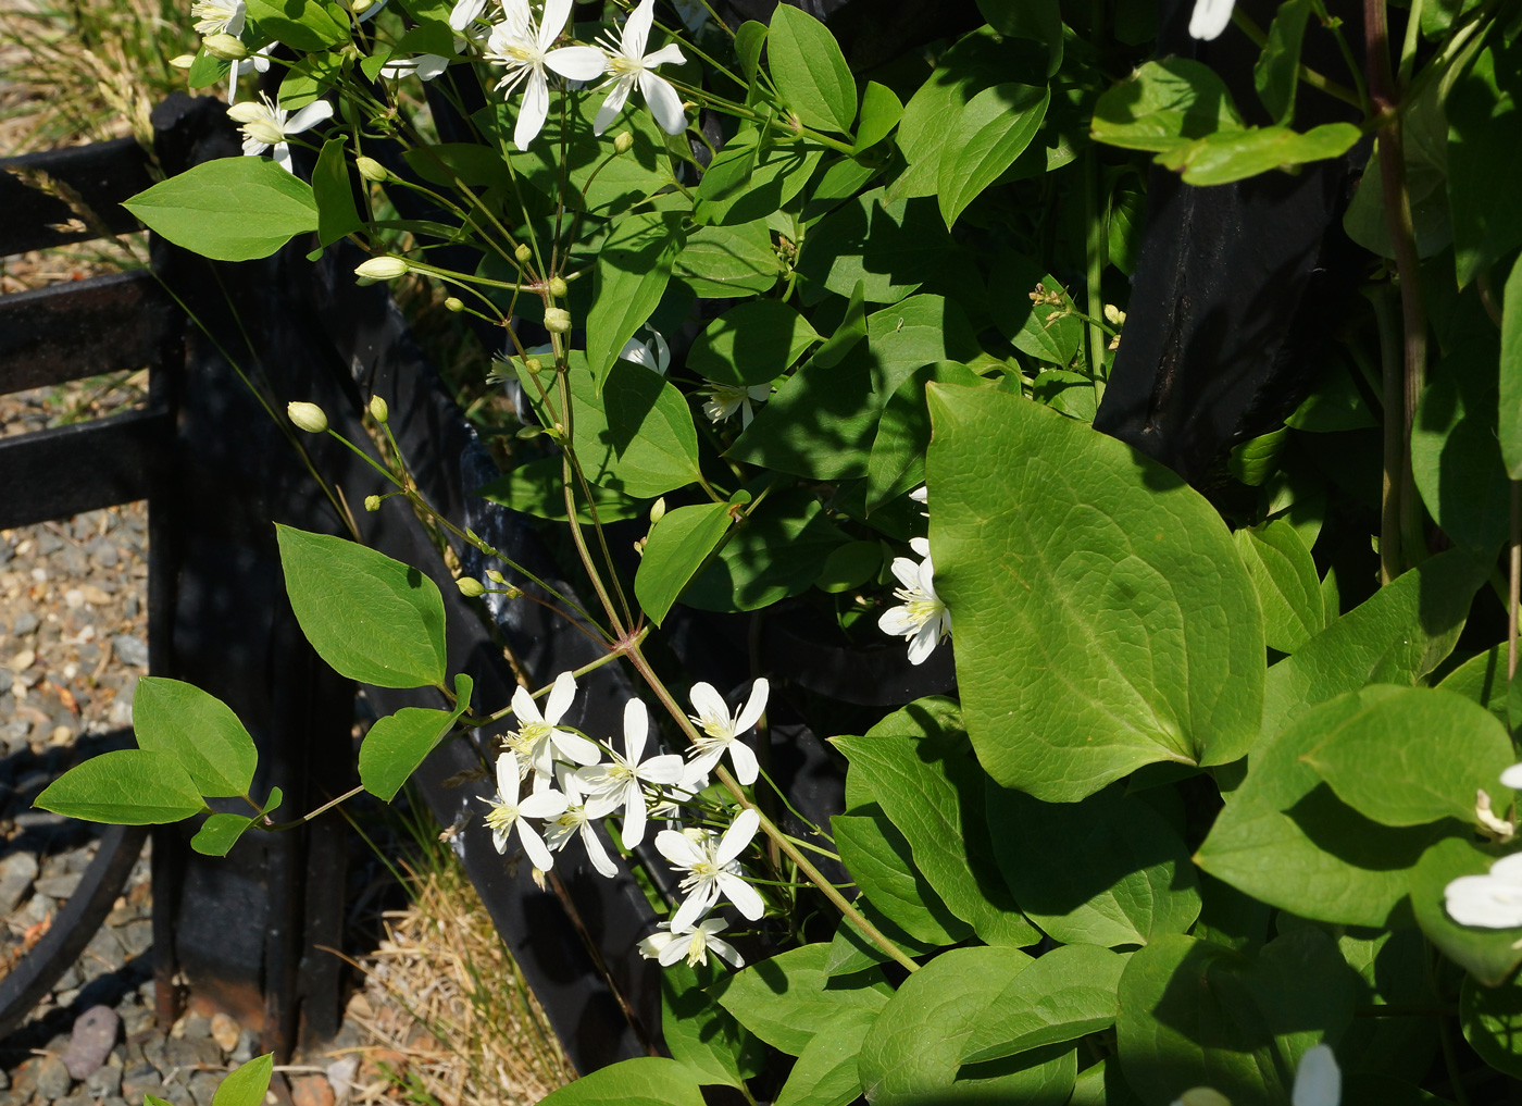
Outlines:
[{"label": "mostly shadowed leaf with sunlit lower edge, directly below the largest leaf", "polygon": [[1055,940],[1146,945],[1199,917],[1189,849],[1119,785],[1081,803],[989,785],[988,829],[1015,902]]}]

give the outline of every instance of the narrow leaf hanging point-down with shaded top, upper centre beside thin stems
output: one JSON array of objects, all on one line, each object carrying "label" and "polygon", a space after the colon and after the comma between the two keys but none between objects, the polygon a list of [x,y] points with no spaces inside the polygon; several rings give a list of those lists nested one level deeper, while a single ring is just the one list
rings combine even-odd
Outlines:
[{"label": "narrow leaf hanging point-down with shaded top, upper centre beside thin stems", "polygon": [[682,233],[661,212],[627,215],[609,232],[597,253],[586,317],[586,361],[600,388],[618,350],[659,306],[680,251]]}]

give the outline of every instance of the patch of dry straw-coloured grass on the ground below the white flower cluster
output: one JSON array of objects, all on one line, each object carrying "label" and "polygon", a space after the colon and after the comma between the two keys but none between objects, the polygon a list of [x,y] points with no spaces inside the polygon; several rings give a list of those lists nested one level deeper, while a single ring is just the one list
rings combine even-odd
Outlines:
[{"label": "patch of dry straw-coloured grass on the ground below the white flower cluster", "polygon": [[377,1042],[353,1103],[528,1106],[575,1077],[454,853],[408,868],[347,1016]]}]

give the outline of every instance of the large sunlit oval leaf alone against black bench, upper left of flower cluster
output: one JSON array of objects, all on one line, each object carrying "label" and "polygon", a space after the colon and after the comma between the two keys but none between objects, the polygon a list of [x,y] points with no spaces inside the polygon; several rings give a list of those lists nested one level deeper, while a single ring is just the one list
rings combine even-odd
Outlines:
[{"label": "large sunlit oval leaf alone against black bench, upper left of flower cluster", "polygon": [[335,672],[377,687],[444,681],[444,600],[420,570],[344,538],[275,526],[301,632]]}]

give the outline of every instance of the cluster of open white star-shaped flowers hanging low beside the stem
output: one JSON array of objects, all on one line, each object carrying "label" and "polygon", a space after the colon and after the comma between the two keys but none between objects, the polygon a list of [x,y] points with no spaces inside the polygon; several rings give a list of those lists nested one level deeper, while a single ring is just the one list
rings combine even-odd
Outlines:
[{"label": "cluster of open white star-shaped flowers hanging low beside the stem", "polygon": [[682,817],[726,754],[741,783],[756,780],[759,766],[743,734],[766,710],[767,681],[756,679],[749,701],[735,713],[711,684],[693,687],[693,722],[702,736],[689,762],[676,754],[647,756],[650,716],[639,699],[624,704],[622,753],[610,745],[604,750],[563,722],[575,692],[575,676],[562,672],[543,710],[525,689],[513,693],[517,730],[507,736],[507,748],[496,760],[496,795],[482,800],[489,807],[486,824],[492,844],[502,853],[516,833],[533,865],[548,871],[557,853],[580,841],[592,867],[612,877],[618,868],[595,824],[621,817],[619,838],[630,850],[645,839],[651,818],[667,820],[670,824],[656,833],[654,845],[680,873],[683,899],[670,922],[641,941],[641,951],[662,964],[683,957],[697,964],[705,963],[712,949],[738,967],[740,954],[717,937],[728,923],[708,916],[720,900],[732,903],[749,920],[759,919],[766,909],[740,867],[740,856],[750,847],[761,818],[753,807],[746,807],[723,832],[714,832],[682,826]]}]

